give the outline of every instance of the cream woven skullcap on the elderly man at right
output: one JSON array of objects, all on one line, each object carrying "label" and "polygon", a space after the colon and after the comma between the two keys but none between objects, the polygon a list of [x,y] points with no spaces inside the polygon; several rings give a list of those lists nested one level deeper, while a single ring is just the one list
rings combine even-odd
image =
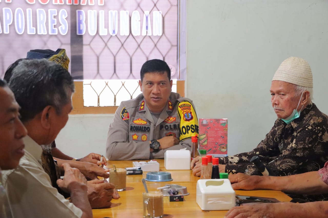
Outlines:
[{"label": "cream woven skullcap on the elderly man at right", "polygon": [[311,68],[303,58],[290,57],[284,60],[273,76],[274,80],[313,88]]}]

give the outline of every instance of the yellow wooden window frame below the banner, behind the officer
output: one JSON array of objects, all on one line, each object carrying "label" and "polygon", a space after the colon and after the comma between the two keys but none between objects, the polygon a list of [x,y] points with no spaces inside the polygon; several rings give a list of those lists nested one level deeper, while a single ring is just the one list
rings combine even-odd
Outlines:
[{"label": "yellow wooden window frame below the banner, behind the officer", "polygon": [[[84,106],[83,81],[74,81],[75,93],[72,96],[73,114],[114,114],[118,106]],[[185,96],[185,81],[176,81],[176,92]]]}]

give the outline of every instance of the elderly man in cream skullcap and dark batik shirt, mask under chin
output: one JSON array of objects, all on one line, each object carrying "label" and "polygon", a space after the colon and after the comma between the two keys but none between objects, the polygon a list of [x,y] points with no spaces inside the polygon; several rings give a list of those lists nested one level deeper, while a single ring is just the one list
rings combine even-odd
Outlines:
[{"label": "elderly man in cream skullcap and dark batik shirt, mask under chin", "polygon": [[[284,176],[317,171],[328,160],[328,117],[312,103],[313,79],[309,64],[290,57],[278,67],[271,83],[272,106],[277,120],[251,152],[220,157],[220,172],[260,174],[250,162],[253,156],[270,175]],[[200,166],[192,161],[194,175]]]}]

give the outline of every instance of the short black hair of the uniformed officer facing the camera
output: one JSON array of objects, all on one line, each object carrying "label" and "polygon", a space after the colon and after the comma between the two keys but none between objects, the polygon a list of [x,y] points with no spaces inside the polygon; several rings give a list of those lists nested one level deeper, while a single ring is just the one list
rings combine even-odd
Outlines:
[{"label": "short black hair of the uniformed officer facing the camera", "polygon": [[153,59],[146,61],[140,70],[140,80],[142,81],[145,73],[161,73],[164,74],[166,72],[169,81],[171,81],[171,69],[169,65],[166,64],[165,61],[159,59]]}]

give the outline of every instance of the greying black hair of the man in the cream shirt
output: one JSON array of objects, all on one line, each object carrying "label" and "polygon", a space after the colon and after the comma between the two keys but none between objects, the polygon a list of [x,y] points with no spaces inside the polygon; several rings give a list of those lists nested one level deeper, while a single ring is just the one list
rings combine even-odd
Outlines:
[{"label": "greying black hair of the man in the cream shirt", "polygon": [[74,82],[70,73],[54,62],[46,59],[22,60],[12,70],[9,87],[21,106],[22,122],[26,122],[51,105],[61,113],[74,92]]}]

